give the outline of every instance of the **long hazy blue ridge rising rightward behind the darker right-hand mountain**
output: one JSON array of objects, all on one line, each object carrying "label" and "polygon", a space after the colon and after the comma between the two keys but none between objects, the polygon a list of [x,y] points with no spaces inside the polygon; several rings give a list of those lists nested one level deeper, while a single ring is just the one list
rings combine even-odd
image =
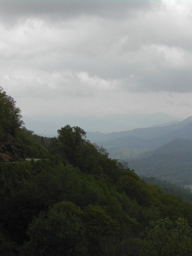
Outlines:
[{"label": "long hazy blue ridge rising rightward behind the darker right-hand mountain", "polygon": [[147,148],[154,150],[175,138],[192,140],[192,116],[182,122],[174,122],[163,126],[138,128],[125,132],[87,132],[90,142],[95,142],[106,149],[109,148]]}]

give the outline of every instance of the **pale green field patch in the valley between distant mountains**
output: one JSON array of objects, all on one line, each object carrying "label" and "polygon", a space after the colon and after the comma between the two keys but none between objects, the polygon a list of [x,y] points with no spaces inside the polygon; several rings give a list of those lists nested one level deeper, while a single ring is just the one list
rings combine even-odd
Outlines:
[{"label": "pale green field patch in the valley between distant mountains", "polygon": [[142,149],[127,149],[127,148],[112,148],[107,149],[110,158],[122,160],[123,158],[136,158],[138,155],[149,152],[146,148]]}]

